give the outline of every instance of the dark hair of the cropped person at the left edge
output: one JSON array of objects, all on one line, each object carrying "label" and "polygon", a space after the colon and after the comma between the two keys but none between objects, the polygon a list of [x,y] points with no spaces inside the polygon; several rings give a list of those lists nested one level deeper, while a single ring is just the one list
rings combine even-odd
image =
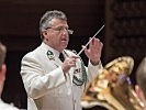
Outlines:
[{"label": "dark hair of the cropped person at the left edge", "polygon": [[5,53],[7,53],[7,48],[5,48],[5,46],[0,42],[0,69],[1,69],[2,64],[4,63]]}]

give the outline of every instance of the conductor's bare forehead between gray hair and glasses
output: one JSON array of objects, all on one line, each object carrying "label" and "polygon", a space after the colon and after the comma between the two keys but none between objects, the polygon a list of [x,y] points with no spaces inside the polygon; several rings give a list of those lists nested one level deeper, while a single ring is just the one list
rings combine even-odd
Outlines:
[{"label": "conductor's bare forehead between gray hair and glasses", "polygon": [[60,19],[52,19],[50,24],[52,26],[68,26],[67,21]]}]

